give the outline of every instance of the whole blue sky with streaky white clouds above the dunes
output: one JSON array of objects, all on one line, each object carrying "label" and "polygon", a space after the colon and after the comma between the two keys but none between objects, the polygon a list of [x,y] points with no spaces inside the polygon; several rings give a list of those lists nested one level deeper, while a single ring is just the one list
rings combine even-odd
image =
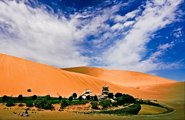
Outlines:
[{"label": "whole blue sky with streaky white clouds above the dunes", "polygon": [[184,0],[0,0],[0,52],[185,81]]}]

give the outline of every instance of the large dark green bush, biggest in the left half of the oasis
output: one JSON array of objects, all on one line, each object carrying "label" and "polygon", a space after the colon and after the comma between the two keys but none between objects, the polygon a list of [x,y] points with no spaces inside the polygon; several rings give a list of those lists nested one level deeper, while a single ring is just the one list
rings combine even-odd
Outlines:
[{"label": "large dark green bush, biggest in the left half of the oasis", "polygon": [[52,109],[53,108],[51,102],[46,97],[37,98],[34,103],[35,103],[35,107],[37,107],[37,108],[43,108],[43,109]]}]

